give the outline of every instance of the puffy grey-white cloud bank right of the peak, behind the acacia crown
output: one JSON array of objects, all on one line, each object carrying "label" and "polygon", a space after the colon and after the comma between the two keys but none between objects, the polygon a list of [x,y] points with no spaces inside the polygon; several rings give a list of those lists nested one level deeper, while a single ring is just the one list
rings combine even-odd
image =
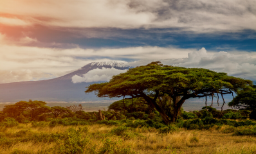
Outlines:
[{"label": "puffy grey-white cloud bank right of the peak, behind the acacia crown", "polygon": [[129,62],[127,65],[146,65],[152,61],[160,61],[165,65],[190,68],[205,68],[228,75],[256,81],[256,54],[247,52],[227,53],[208,52],[204,47],[188,53],[187,58],[151,59]]}]

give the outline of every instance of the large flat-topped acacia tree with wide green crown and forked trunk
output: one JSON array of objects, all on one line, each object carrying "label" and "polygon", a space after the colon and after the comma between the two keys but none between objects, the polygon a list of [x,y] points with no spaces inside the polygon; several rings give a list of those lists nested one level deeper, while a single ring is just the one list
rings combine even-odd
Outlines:
[{"label": "large flat-topped acacia tree with wide green crown and forked trunk", "polygon": [[[156,108],[166,124],[176,121],[179,110],[189,98],[207,98],[215,94],[233,94],[239,89],[250,89],[252,81],[216,73],[208,69],[173,67],[161,62],[152,62],[126,73],[113,76],[110,81],[89,85],[86,94],[95,92],[98,97],[143,98]],[[172,98],[173,112],[167,116],[156,103],[161,96]],[[223,98],[224,105],[224,98]]]}]

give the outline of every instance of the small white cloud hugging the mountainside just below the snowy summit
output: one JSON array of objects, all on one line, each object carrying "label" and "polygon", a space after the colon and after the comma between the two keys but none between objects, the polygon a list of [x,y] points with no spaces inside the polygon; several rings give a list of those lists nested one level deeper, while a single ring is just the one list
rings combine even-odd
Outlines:
[{"label": "small white cloud hugging the mountainside just below the snowy summit", "polygon": [[73,83],[80,83],[80,82],[97,82],[97,81],[109,81],[112,76],[125,73],[127,70],[119,70],[112,67],[111,69],[102,67],[102,69],[93,69],[88,73],[81,76],[73,76],[72,82]]}]

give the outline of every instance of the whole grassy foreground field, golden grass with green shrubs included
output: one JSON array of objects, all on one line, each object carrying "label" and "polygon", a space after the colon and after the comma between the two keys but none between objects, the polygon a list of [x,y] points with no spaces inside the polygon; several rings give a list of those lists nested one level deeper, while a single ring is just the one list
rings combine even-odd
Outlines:
[{"label": "whole grassy foreground field, golden grass with green shrubs included", "polygon": [[161,133],[156,128],[49,122],[0,126],[0,153],[256,153],[256,137],[233,135],[239,128]]}]

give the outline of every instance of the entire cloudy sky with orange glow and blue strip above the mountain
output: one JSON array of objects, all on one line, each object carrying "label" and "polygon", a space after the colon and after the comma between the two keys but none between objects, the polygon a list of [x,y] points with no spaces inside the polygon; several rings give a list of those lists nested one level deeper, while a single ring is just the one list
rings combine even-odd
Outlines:
[{"label": "entire cloudy sky with orange glow and blue strip above the mountain", "polygon": [[[0,0],[0,83],[109,60],[159,60],[256,81],[256,1]],[[91,74],[109,80],[109,71],[119,72]]]}]

